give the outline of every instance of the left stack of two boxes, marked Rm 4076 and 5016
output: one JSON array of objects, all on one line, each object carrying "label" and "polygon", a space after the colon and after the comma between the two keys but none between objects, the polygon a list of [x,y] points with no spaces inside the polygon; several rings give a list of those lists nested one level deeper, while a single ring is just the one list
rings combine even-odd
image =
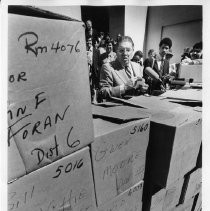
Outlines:
[{"label": "left stack of two boxes, marked Rm 4076 and 5016", "polygon": [[9,7],[9,210],[95,210],[84,30],[69,17]]}]

